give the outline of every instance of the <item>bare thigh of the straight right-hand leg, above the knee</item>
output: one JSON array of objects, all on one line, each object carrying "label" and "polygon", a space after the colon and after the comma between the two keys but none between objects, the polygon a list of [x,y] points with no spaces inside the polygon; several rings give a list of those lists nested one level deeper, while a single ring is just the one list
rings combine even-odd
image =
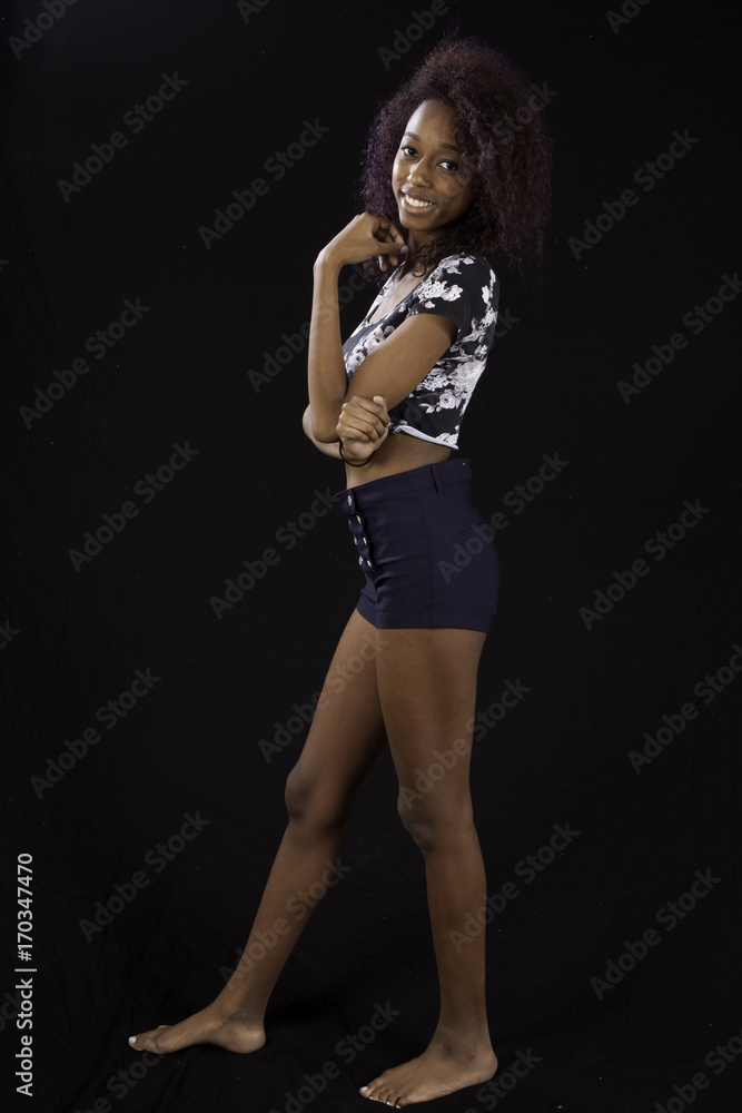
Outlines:
[{"label": "bare thigh of the straight right-hand leg, above the knee", "polygon": [[[400,787],[419,787],[421,776],[423,784],[439,779],[437,804],[468,801],[476,676],[485,634],[434,628],[378,630],[377,638],[378,692]],[[445,776],[438,778],[441,768]]]}]

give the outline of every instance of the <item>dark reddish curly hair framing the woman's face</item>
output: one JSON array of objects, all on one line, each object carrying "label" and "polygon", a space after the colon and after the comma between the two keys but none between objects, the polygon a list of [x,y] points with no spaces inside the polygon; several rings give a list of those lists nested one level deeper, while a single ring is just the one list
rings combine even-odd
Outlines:
[{"label": "dark reddish curly hair framing the woman's face", "polygon": [[[366,211],[398,221],[392,165],[408,119],[424,100],[454,109],[456,142],[472,174],[472,204],[415,253],[414,273],[463,252],[502,252],[521,270],[541,263],[552,142],[543,112],[528,104],[533,95],[525,75],[483,39],[448,38],[377,110],[362,161]],[[365,266],[374,277],[382,276],[378,260]]]}]

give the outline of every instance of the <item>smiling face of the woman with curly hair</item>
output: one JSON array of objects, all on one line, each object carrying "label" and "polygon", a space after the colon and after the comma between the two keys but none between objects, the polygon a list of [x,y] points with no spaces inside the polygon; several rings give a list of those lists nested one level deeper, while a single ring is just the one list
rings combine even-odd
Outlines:
[{"label": "smiling face of the woman with curly hair", "polygon": [[407,121],[392,168],[398,219],[417,248],[469,207],[472,176],[462,166],[454,132],[455,112],[439,100],[424,100]]}]

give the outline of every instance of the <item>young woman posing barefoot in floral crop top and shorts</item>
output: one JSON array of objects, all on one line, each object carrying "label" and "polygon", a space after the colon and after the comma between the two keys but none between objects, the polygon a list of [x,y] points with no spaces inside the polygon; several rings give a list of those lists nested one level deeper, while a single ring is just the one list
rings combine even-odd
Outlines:
[{"label": "young woman posing barefoot in floral crop top and shorts", "polygon": [[[469,462],[452,450],[496,325],[498,285],[481,253],[518,264],[538,258],[548,171],[531,87],[478,40],[439,45],[374,122],[367,211],[315,263],[304,415],[314,444],[345,461],[336,499],[365,575],[328,678],[353,657],[365,666],[352,683],[325,683],[288,778],[288,827],[237,971],[207,1008],[132,1036],[138,1051],[263,1046],[268,997],[308,919],[306,905],[300,915],[289,909],[298,893],[323,893],[334,879],[356,791],[388,745],[399,815],[425,860],[441,1011],[423,1054],[362,1093],[404,1106],[495,1073],[484,933],[465,947],[453,940],[486,898],[468,779],[498,570],[469,501]],[[338,276],[363,262],[387,279],[343,345]]]}]

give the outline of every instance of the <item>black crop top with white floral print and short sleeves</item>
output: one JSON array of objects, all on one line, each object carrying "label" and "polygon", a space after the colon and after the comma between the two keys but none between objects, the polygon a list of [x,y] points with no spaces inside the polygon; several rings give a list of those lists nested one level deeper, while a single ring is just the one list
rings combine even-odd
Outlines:
[{"label": "black crop top with white floral print and short sleeves", "polygon": [[393,276],[378,292],[368,313],[343,345],[348,381],[369,352],[406,317],[437,313],[458,326],[456,339],[422,383],[389,410],[389,432],[408,433],[423,441],[458,442],[458,431],[472,392],[484,371],[497,325],[499,286],[486,259],[449,255],[403,297],[398,305],[369,323]]}]

